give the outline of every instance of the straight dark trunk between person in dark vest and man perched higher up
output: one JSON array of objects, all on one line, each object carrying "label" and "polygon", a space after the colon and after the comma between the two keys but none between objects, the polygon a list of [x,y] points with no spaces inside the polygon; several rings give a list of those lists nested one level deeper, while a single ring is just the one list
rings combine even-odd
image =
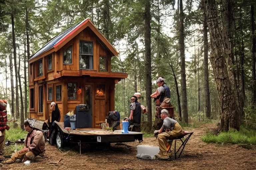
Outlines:
[{"label": "straight dark trunk between person in dark vest and man perched higher up", "polygon": [[150,0],[146,0],[145,4],[145,72],[146,72],[146,105],[148,107],[148,131],[152,128],[152,107],[151,107],[151,16],[150,16]]}]

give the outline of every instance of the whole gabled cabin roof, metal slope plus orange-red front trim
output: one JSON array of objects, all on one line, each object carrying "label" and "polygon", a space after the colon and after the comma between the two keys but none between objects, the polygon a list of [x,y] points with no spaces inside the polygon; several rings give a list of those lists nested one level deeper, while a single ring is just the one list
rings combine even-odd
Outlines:
[{"label": "whole gabled cabin roof, metal slope plus orange-red front trim", "polygon": [[[40,56],[41,54],[56,48],[57,51],[59,48],[64,46],[70,39],[74,38],[77,34],[79,34],[83,29],[86,27],[90,27],[90,29],[98,36],[98,38],[109,48],[109,50],[116,56],[119,52],[116,48],[110,44],[110,42],[100,33],[100,31],[94,26],[90,19],[85,19],[80,23],[70,27],[60,35],[54,37],[51,41],[47,42],[41,49],[39,49],[29,61],[35,59],[36,57]],[[40,57],[41,58],[41,57]]]}]

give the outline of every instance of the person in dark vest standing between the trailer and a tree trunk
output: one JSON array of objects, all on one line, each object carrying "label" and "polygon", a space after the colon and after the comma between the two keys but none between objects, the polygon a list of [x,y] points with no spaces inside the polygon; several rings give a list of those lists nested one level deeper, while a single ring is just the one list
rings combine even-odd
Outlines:
[{"label": "person in dark vest standing between the trailer and a tree trunk", "polygon": [[129,122],[130,122],[129,131],[140,132],[141,106],[137,100],[138,100],[138,98],[136,96],[131,97],[131,105],[130,105],[131,111],[130,111],[130,116],[129,116]]}]

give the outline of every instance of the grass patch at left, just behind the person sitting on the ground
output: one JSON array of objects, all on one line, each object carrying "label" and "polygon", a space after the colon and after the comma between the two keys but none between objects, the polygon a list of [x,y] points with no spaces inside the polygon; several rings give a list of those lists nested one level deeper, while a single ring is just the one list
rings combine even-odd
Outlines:
[{"label": "grass patch at left, just behind the person sitting on the ground", "polygon": [[9,130],[5,130],[5,141],[10,140],[11,142],[15,142],[18,139],[25,139],[27,134],[28,132],[21,128],[10,128]]}]

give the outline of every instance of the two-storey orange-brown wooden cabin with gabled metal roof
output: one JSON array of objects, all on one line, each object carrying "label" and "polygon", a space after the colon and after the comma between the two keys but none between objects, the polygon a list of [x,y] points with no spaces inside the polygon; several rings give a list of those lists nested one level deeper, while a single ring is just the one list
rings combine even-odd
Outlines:
[{"label": "two-storey orange-brown wooden cabin with gabled metal roof", "polygon": [[55,102],[63,122],[76,105],[86,104],[91,128],[100,128],[115,110],[115,84],[127,78],[127,73],[111,72],[111,57],[118,54],[90,19],[46,43],[29,59],[30,117],[51,120],[50,103]]}]

